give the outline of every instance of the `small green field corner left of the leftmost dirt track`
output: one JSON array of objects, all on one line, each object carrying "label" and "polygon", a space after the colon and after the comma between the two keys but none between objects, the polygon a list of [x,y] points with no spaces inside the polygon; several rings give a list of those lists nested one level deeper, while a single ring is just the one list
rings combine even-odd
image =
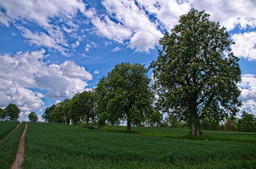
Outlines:
[{"label": "small green field corner left of the leftmost dirt track", "polygon": [[0,140],[7,136],[19,123],[18,121],[0,121]]}]

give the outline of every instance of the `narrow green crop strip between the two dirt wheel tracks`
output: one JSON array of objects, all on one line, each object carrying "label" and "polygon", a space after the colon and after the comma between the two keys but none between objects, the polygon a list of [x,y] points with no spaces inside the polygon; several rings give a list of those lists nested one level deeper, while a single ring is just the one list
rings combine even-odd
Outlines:
[{"label": "narrow green crop strip between the two dirt wheel tracks", "polygon": [[0,168],[9,169],[14,162],[18,143],[25,128],[26,122],[14,130],[9,136],[6,136],[0,144]]}]

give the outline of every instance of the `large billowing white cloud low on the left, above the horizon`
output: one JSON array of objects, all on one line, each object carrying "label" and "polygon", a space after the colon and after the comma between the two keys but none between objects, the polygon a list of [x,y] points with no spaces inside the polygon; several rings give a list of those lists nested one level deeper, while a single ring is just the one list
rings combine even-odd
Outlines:
[{"label": "large billowing white cloud low on the left, above the horizon", "polygon": [[42,108],[44,95],[28,88],[48,89],[49,98],[71,98],[85,90],[87,81],[92,79],[90,72],[73,61],[47,65],[44,53],[42,49],[0,56],[1,107],[15,103],[21,111]]}]

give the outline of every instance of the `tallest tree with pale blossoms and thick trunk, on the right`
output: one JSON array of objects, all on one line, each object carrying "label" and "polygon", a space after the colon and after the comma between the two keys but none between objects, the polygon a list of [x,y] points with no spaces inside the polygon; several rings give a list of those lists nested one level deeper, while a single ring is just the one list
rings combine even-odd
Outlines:
[{"label": "tallest tree with pale blossoms and thick trunk, on the right", "polygon": [[[239,58],[231,52],[230,38],[209,14],[191,9],[159,41],[162,50],[150,64],[159,99],[156,106],[178,120],[192,124],[200,135],[200,119],[219,121],[235,116],[241,106]],[[225,55],[226,54],[226,55]]]}]

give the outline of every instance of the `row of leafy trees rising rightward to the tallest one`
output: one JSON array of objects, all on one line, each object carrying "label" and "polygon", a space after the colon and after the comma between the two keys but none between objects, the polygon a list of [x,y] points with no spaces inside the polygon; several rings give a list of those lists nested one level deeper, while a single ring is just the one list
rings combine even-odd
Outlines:
[{"label": "row of leafy trees rising rightward to the tallest one", "polygon": [[204,119],[219,122],[235,117],[241,106],[241,91],[236,86],[241,82],[239,58],[232,52],[235,43],[226,28],[209,21],[209,16],[191,9],[160,39],[162,49],[149,66],[155,80],[152,87],[144,66],[117,64],[93,92],[49,107],[43,117],[61,123],[71,120],[73,124],[95,119],[100,124],[119,124],[126,120],[130,131],[131,124],[144,124],[154,114],[160,117],[167,113],[191,124],[192,135],[200,135]]}]

